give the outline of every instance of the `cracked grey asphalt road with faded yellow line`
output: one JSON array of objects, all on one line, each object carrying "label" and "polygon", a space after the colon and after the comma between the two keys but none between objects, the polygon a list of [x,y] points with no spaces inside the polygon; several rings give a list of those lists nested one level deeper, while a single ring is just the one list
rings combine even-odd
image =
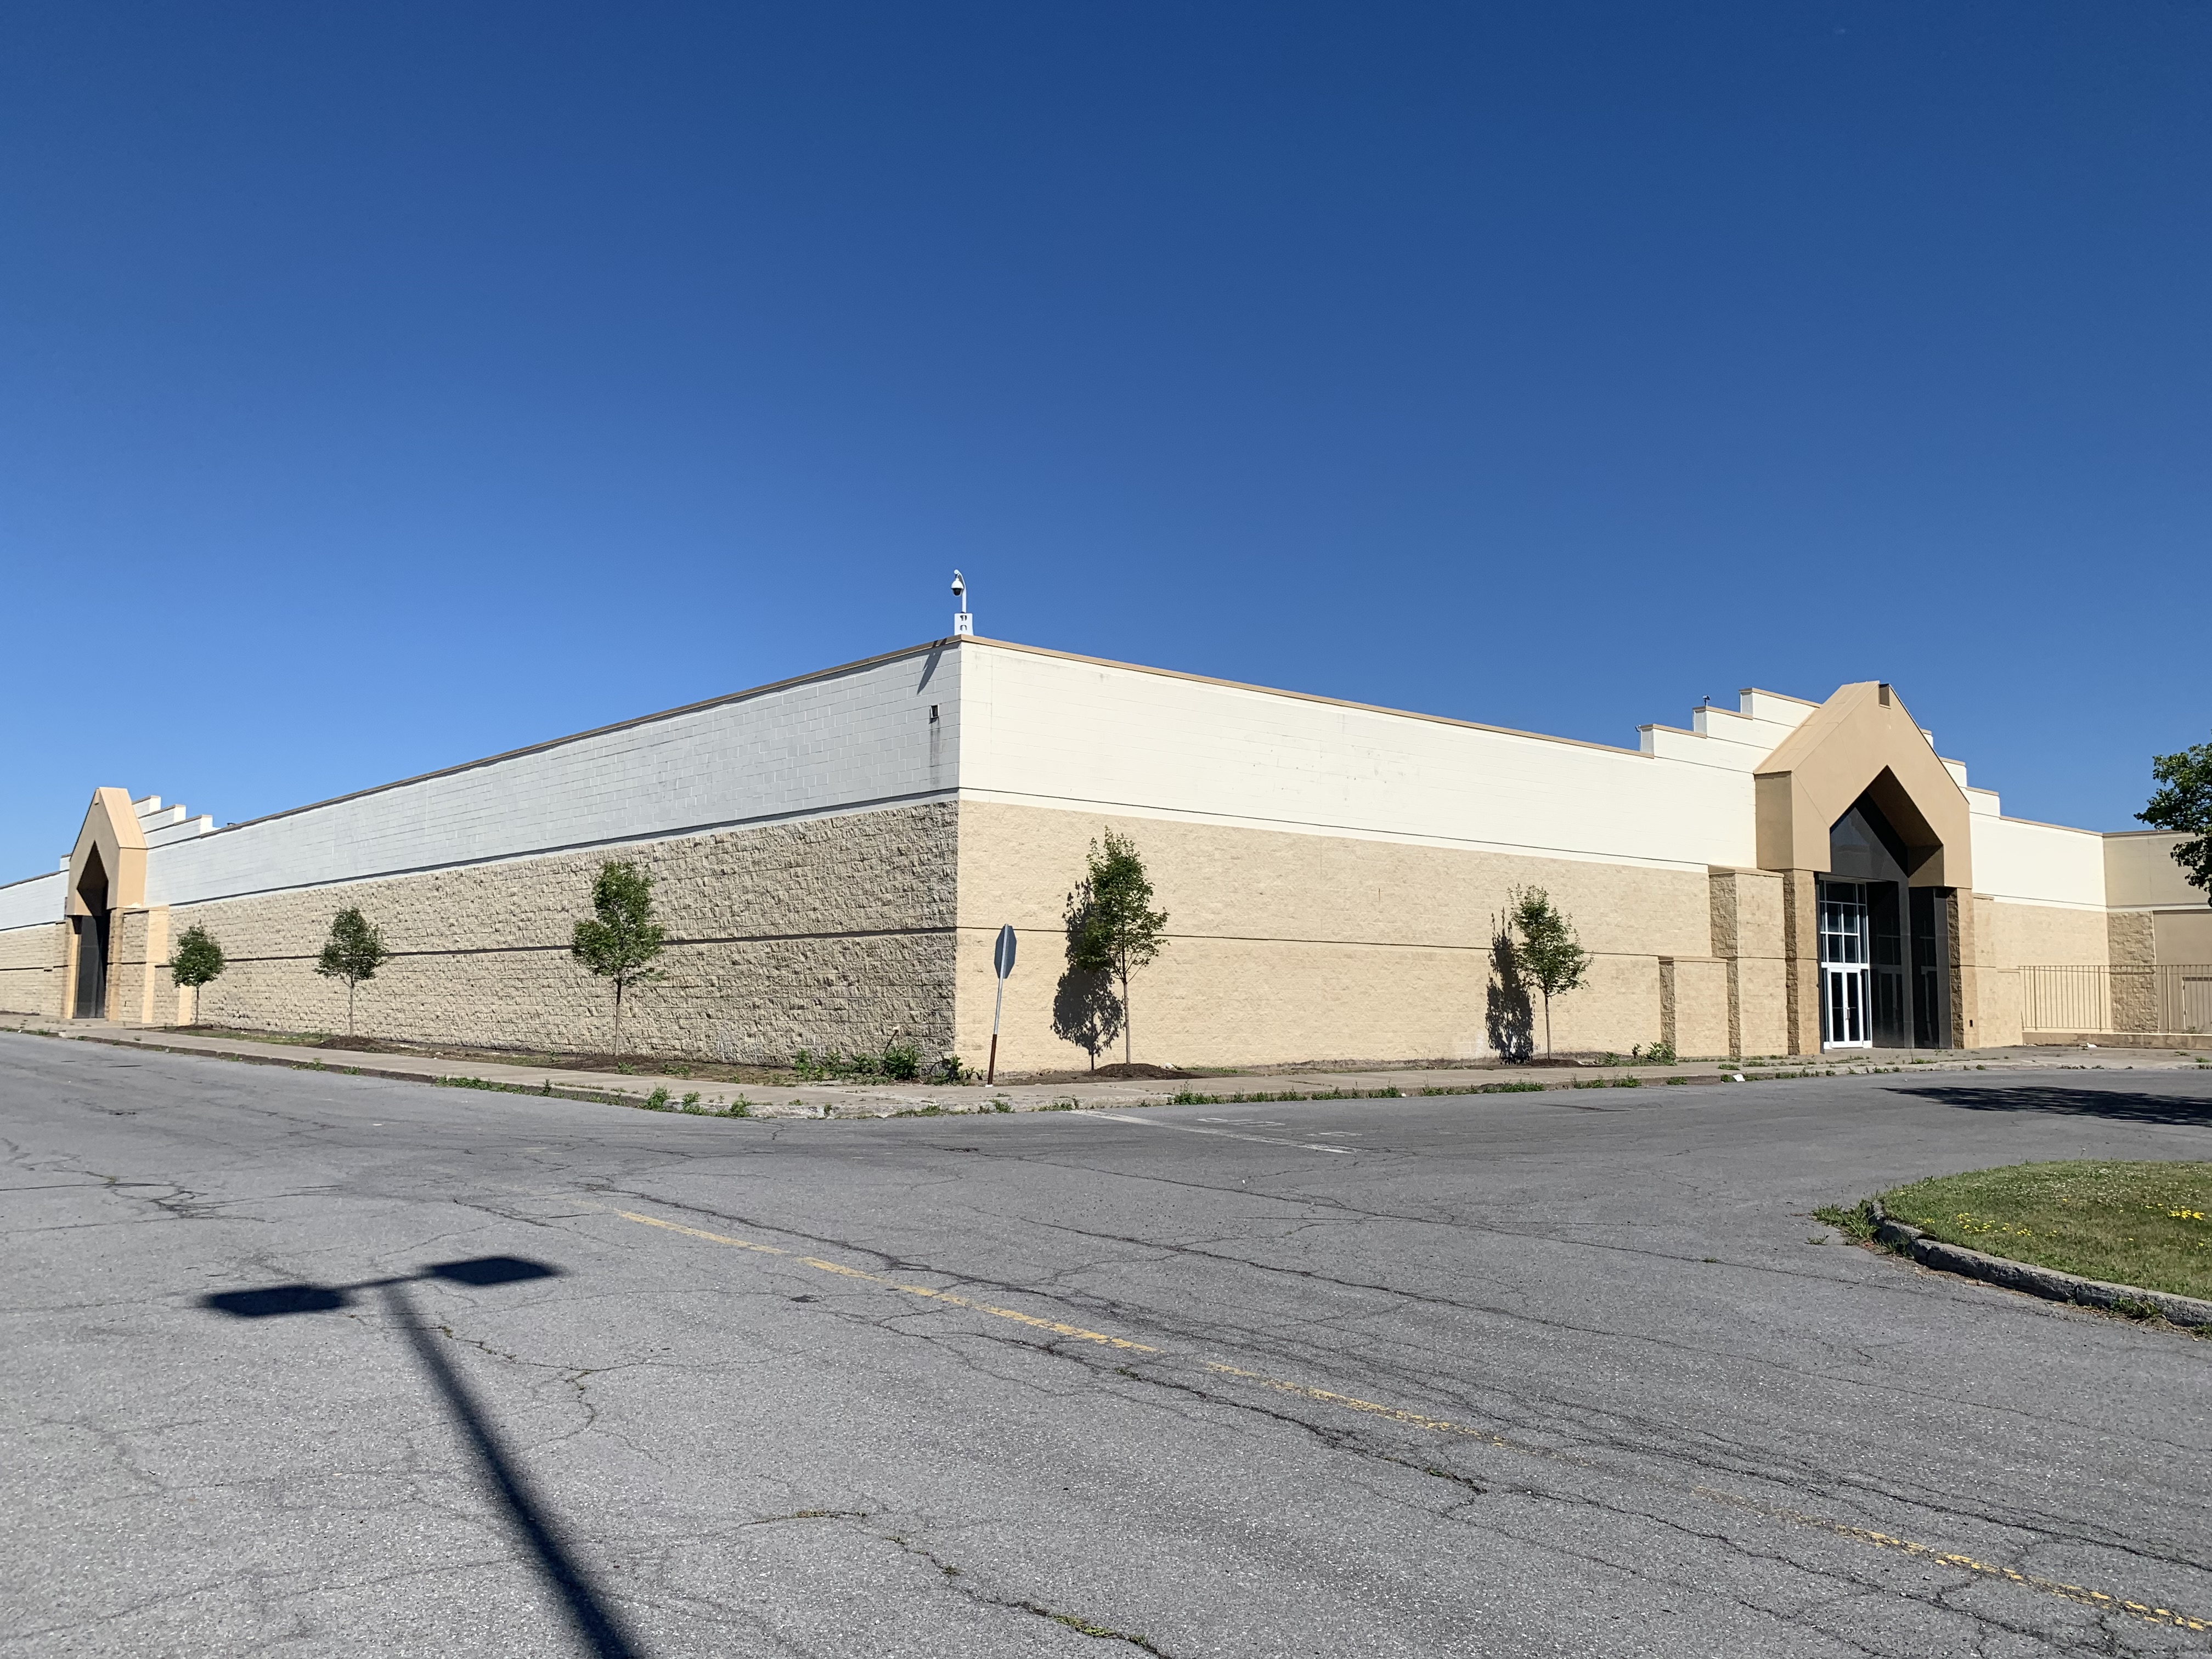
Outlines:
[{"label": "cracked grey asphalt road with faded yellow line", "polygon": [[2212,1648],[2212,1343],[1807,1217],[2212,1157],[2212,1073],[745,1124],[4,1035],[0,1137],[0,1655]]}]

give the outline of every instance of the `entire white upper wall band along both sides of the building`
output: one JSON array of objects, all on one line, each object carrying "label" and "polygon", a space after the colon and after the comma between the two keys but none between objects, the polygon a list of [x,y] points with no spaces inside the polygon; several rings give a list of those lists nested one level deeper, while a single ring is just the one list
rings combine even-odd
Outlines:
[{"label": "entire white upper wall band along both sides of the building", "polygon": [[[1644,752],[1040,653],[909,653],[208,834],[146,796],[146,902],[361,880],[942,796],[1391,836],[1663,867],[1759,860],[1752,772],[1816,703],[1743,692]],[[931,717],[936,714],[936,717]],[[1962,781],[1964,768],[1947,763]],[[1975,887],[2044,905],[2192,905],[2170,836],[2000,816],[1969,790]],[[51,922],[62,878],[0,887]],[[2132,896],[2130,896],[2132,894]]]}]

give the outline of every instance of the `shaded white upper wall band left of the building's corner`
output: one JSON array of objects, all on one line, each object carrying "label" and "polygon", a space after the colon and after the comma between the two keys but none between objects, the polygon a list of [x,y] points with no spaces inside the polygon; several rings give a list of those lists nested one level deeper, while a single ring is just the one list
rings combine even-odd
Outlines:
[{"label": "shaded white upper wall band left of the building's corner", "polygon": [[[157,845],[146,900],[184,905],[947,794],[958,681],[958,650],[916,650]],[[49,916],[60,916],[58,900]]]}]

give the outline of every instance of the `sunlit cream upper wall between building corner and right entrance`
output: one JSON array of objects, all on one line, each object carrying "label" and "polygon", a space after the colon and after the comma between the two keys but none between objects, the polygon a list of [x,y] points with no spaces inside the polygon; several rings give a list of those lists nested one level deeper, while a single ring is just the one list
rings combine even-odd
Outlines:
[{"label": "sunlit cream upper wall between building corner and right entrance", "polygon": [[1754,863],[1747,770],[998,644],[962,655],[962,792],[1509,852]]}]

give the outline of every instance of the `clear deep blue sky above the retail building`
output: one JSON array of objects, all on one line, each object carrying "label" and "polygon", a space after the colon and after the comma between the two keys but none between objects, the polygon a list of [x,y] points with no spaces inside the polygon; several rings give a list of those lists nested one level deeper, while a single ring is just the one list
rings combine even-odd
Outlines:
[{"label": "clear deep blue sky above the retail building", "polygon": [[2212,9],[15,4],[0,878],[947,630],[2212,728]]}]

